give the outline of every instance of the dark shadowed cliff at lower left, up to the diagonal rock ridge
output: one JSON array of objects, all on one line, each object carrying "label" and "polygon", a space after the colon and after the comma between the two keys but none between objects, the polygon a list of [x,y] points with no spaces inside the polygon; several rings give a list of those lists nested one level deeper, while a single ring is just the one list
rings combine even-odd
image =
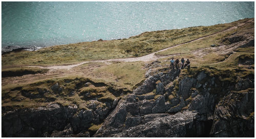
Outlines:
[{"label": "dark shadowed cliff at lower left, up to the diagonal rock ridge", "polygon": [[102,123],[117,101],[106,102],[106,107],[99,107],[99,102],[92,100],[88,110],[78,110],[76,105],[62,106],[58,103],[36,109],[14,110],[2,116],[2,136],[90,137],[88,128],[92,123]]}]

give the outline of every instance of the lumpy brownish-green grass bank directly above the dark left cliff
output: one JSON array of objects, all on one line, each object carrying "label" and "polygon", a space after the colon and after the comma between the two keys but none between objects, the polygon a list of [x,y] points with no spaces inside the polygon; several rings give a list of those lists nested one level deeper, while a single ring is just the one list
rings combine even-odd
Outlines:
[{"label": "lumpy brownish-green grass bank directly above the dark left cliff", "polygon": [[[57,82],[62,88],[60,92],[54,92],[51,89]],[[86,82],[91,82],[91,85],[85,87]],[[87,109],[87,101],[96,97],[100,97],[99,101],[102,100],[102,102],[99,103],[104,106],[103,101],[112,102],[114,99],[118,99],[108,89],[109,86],[104,82],[88,78],[56,78],[29,85],[5,86],[2,88],[2,109],[5,112],[15,108],[39,107],[45,106],[49,102],[57,102],[63,106],[76,104],[80,109]],[[41,93],[41,91],[45,92]],[[70,95],[72,91],[74,94]],[[89,99],[84,97],[84,93],[90,93]]]}]

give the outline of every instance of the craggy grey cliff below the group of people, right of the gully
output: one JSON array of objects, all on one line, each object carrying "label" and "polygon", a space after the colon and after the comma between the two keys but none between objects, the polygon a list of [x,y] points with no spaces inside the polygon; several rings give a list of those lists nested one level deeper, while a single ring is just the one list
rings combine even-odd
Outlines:
[{"label": "craggy grey cliff below the group of people, right of the gully", "polygon": [[[95,136],[254,136],[254,116],[251,115],[254,113],[254,90],[232,91],[241,90],[239,82],[242,82],[243,89],[253,88],[253,78],[240,80],[236,84],[217,82],[218,79],[209,78],[202,71],[195,77],[180,79],[177,94],[169,97],[174,86],[166,85],[178,74],[177,71],[170,71],[145,80],[134,94],[119,101]],[[153,90],[157,80],[161,80],[155,85],[158,98],[142,97],[141,94]],[[216,88],[222,89],[215,92]]]}]

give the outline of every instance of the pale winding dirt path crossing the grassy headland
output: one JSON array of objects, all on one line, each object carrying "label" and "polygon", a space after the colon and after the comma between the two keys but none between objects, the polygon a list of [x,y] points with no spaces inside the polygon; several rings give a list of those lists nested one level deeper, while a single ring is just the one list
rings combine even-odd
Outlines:
[{"label": "pale winding dirt path crossing the grassy headland", "polygon": [[[250,22],[250,21],[251,20],[249,20],[247,22]],[[177,45],[174,45],[174,46],[170,46],[170,47],[161,49],[159,51],[143,55],[142,57],[125,58],[125,59],[110,59],[110,60],[95,60],[95,61],[81,62],[81,63],[78,63],[78,64],[72,64],[72,65],[60,65],[60,66],[51,66],[51,67],[42,67],[42,66],[29,66],[29,67],[48,68],[50,70],[58,70],[58,69],[68,69],[69,70],[69,69],[72,69],[73,67],[80,66],[82,64],[86,64],[86,63],[90,63],[90,62],[108,63],[108,62],[113,62],[113,61],[120,61],[120,62],[135,62],[135,61],[149,62],[149,61],[155,61],[157,59],[166,58],[166,57],[170,56],[170,55],[156,56],[155,53],[157,53],[157,52],[165,51],[165,50],[168,50],[170,48],[174,48],[174,47],[177,47],[177,46],[180,46],[180,45],[183,45],[183,44],[187,44],[187,43],[191,43],[191,42],[194,42],[194,41],[197,41],[197,40],[201,40],[201,39],[204,39],[206,37],[210,37],[210,36],[215,35],[215,34],[219,34],[219,33],[227,32],[227,31],[230,31],[230,30],[234,30],[234,29],[237,29],[238,26],[241,26],[241,25],[244,25],[244,24],[245,23],[240,23],[240,24],[238,24],[236,26],[229,27],[228,29],[225,29],[223,31],[220,31],[220,32],[217,32],[217,33],[214,33],[214,34],[210,34],[210,35],[198,38],[198,39],[194,39],[194,40],[191,40],[191,41],[188,41],[188,42],[184,42],[184,43],[181,43],[181,44],[177,44]]]}]

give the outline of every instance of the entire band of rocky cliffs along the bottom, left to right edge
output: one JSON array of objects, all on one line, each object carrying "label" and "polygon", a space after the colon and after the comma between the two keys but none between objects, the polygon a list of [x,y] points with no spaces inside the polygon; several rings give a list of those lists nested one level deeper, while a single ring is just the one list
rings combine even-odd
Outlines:
[{"label": "entire band of rocky cliffs along the bottom, left to right edge", "polygon": [[[2,136],[254,136],[253,77],[221,81],[206,71],[197,72],[188,76],[171,70],[150,76],[105,109],[95,102],[92,110],[52,103],[8,112],[2,116]],[[100,121],[104,122],[96,133],[88,132]]]}]

